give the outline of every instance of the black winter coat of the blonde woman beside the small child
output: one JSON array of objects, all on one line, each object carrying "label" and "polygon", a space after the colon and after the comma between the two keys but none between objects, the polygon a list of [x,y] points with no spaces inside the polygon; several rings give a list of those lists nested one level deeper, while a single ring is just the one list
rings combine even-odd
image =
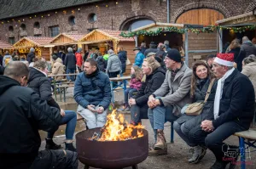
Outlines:
[{"label": "black winter coat of the blonde woman beside the small child", "polygon": [[143,82],[142,87],[140,87],[137,94],[133,97],[138,106],[148,103],[148,97],[165,81],[165,75],[166,71],[159,67],[147,76],[146,82]]}]

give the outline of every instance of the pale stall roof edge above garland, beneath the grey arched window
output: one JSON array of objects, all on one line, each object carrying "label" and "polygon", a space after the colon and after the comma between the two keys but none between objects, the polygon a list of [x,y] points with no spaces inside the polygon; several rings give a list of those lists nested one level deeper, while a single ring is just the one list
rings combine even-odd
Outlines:
[{"label": "pale stall roof edge above garland, beneath the grey arched window", "polygon": [[132,30],[132,31],[141,31],[141,30],[153,31],[153,30],[156,30],[159,27],[171,27],[171,26],[180,27],[180,28],[184,27],[183,24],[171,24],[171,23],[155,22],[153,24],[144,25],[144,26],[139,27],[139,28],[137,28],[135,30]]}]

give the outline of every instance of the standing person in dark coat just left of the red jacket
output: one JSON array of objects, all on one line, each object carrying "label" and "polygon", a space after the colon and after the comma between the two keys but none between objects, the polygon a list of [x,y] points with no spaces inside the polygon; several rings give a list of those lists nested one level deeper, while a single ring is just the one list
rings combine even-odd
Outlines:
[{"label": "standing person in dark coat just left of the red jacket", "polygon": [[[76,64],[77,64],[77,59],[75,55],[73,54],[73,48],[67,48],[68,54],[66,55],[64,65],[66,66],[67,69],[67,74],[73,74],[76,72]],[[75,80],[75,76],[67,76],[68,81],[73,81]]]}]

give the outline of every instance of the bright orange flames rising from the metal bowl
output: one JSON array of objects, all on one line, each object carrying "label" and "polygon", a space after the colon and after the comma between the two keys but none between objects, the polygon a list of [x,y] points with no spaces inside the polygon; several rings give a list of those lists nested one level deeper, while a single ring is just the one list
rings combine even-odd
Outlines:
[{"label": "bright orange flames rising from the metal bowl", "polygon": [[[97,141],[125,141],[127,139],[141,138],[143,137],[143,128],[141,124],[138,126],[129,124],[125,121],[124,115],[118,114],[116,110],[113,110],[107,116],[106,125],[102,127],[102,135]],[[134,130],[137,130],[137,134],[133,133],[136,132]]]}]

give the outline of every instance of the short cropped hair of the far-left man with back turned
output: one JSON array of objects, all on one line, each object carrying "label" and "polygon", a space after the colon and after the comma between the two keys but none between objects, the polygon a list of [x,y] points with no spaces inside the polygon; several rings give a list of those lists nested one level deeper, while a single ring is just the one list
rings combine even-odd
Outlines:
[{"label": "short cropped hair of the far-left man with back turned", "polygon": [[20,78],[22,76],[26,76],[28,78],[29,70],[27,66],[20,62],[10,62],[9,65],[6,66],[4,70],[4,76],[9,76],[11,78]]}]

